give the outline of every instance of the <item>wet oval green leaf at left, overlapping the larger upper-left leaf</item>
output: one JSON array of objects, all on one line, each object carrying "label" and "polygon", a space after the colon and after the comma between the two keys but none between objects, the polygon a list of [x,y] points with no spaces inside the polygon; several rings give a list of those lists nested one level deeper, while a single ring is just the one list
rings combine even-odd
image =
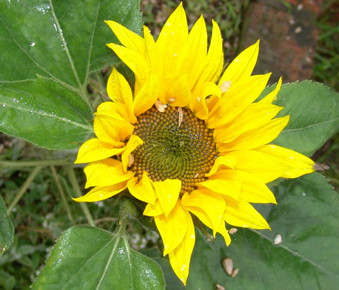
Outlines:
[{"label": "wet oval green leaf at left, overlapping the larger upper-left leaf", "polygon": [[48,149],[72,149],[93,131],[77,93],[46,78],[0,84],[0,130]]}]

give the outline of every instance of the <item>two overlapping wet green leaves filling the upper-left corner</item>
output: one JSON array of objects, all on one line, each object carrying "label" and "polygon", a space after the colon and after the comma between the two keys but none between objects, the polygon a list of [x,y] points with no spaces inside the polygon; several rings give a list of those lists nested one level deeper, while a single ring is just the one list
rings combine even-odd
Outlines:
[{"label": "two overlapping wet green leaves filling the upper-left corner", "polygon": [[105,44],[117,39],[104,20],[138,32],[138,8],[122,0],[1,1],[0,130],[48,149],[86,141],[89,73],[116,62]]}]

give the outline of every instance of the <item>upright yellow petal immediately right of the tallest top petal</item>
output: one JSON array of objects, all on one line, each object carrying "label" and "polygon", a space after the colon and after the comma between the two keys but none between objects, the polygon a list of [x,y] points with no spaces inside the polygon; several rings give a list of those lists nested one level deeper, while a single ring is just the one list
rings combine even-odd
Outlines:
[{"label": "upright yellow petal immediately right of the tallest top petal", "polygon": [[192,89],[203,71],[207,54],[207,30],[203,16],[196,21],[178,56],[177,72],[188,73],[188,88]]}]

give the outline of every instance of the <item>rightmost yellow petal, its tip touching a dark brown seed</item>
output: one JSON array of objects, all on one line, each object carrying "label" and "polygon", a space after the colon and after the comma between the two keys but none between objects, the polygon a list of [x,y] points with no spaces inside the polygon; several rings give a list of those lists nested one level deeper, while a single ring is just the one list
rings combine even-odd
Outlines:
[{"label": "rightmost yellow petal, its tip touching a dark brown seed", "polygon": [[314,172],[312,168],[314,162],[310,158],[291,149],[277,145],[264,145],[255,150],[275,156],[279,162],[290,167],[289,170],[282,174],[284,178],[291,179]]}]

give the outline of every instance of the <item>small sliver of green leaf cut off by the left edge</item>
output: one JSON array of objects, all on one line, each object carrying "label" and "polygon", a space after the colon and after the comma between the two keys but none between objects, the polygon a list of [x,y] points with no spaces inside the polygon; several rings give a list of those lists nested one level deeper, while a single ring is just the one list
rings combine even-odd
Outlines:
[{"label": "small sliver of green leaf cut off by the left edge", "polygon": [[14,239],[14,227],[7,215],[6,205],[0,195],[0,257]]}]

